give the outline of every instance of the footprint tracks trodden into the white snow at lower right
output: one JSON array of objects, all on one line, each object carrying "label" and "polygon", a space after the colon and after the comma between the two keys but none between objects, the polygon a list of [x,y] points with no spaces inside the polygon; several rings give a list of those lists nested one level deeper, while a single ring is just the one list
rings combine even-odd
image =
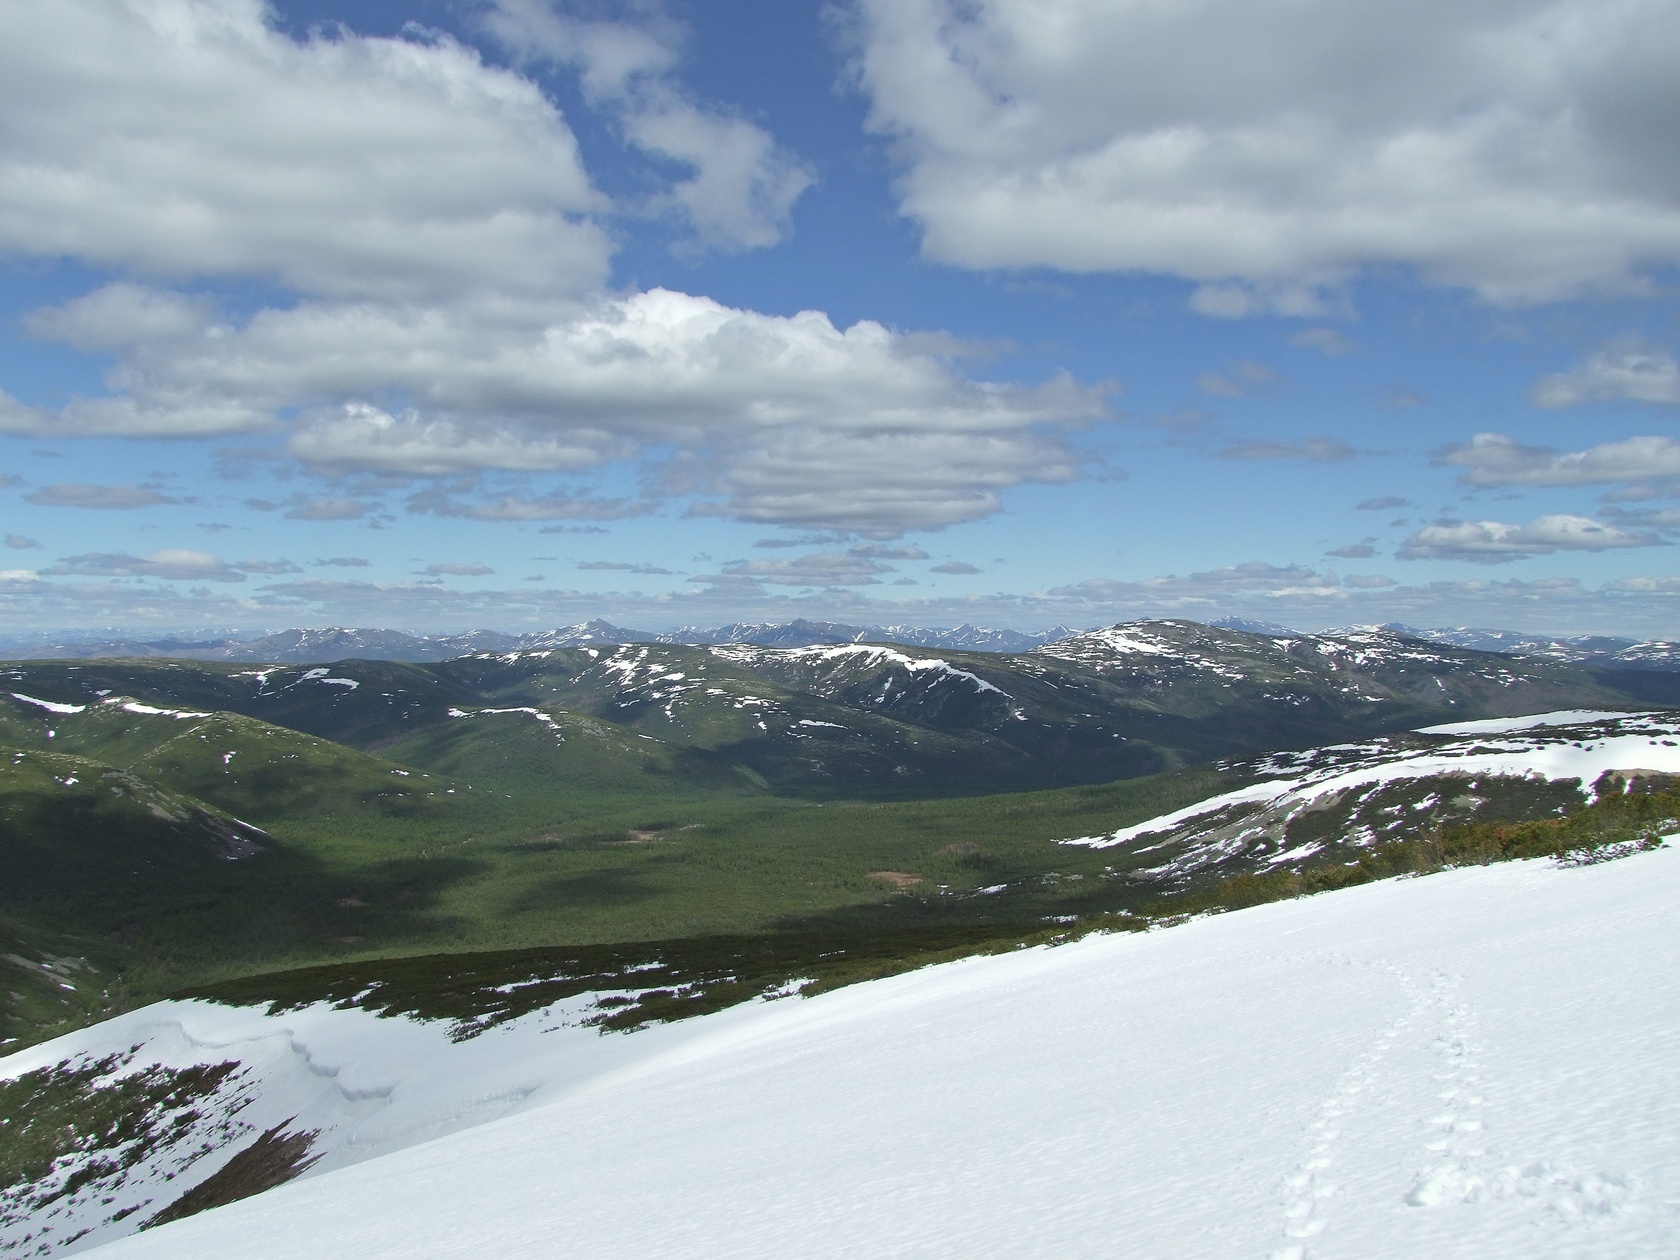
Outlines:
[{"label": "footprint tracks trodden into the white snow at lower right", "polygon": [[1336,1141],[1361,1094],[1381,1079],[1383,1062],[1413,1026],[1433,1030],[1436,1109],[1421,1126],[1428,1134],[1418,1152],[1418,1171],[1404,1191],[1413,1208],[1435,1208],[1483,1200],[1519,1200],[1556,1223],[1584,1223],[1620,1213],[1638,1191],[1638,1178],[1613,1173],[1578,1174],[1547,1161],[1500,1164],[1488,1151],[1483,1094],[1475,1038],[1475,1018],[1458,995],[1458,981],[1436,973],[1420,984],[1399,968],[1389,968],[1411,998],[1406,1015],[1391,1021],[1376,1043],[1342,1074],[1319,1105],[1309,1127],[1309,1147],[1285,1178],[1284,1238],[1270,1260],[1307,1260],[1310,1240],[1324,1233],[1339,1184],[1334,1173]]}]

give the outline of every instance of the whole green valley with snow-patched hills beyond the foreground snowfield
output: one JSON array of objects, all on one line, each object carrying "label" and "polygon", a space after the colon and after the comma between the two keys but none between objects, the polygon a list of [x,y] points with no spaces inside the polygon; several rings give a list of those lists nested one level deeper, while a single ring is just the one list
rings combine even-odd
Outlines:
[{"label": "whole green valley with snow-patched hills beyond the foreground snowfield", "polygon": [[[297,1094],[284,1055],[218,1058],[223,1035],[205,1040],[213,1025],[265,1043],[260,1011],[328,1042],[351,1025],[324,1011],[390,1021],[410,1028],[393,1045],[417,1037],[438,1063],[450,1045],[568,1030],[586,1063],[603,1035],[953,959],[1394,875],[1643,852],[1680,827],[1680,714],[1621,677],[1394,632],[1193,622],[1018,654],[633,642],[10,662],[0,1050],[84,1048],[5,1089],[42,1116],[133,1095],[123,1124],[160,1117],[160,1089],[202,1087],[203,1104],[192,1144],[133,1129],[133,1176],[97,1144],[29,1156],[0,1134],[0,1159],[34,1169],[10,1174],[22,1215],[0,1221],[0,1255],[20,1221],[121,1236],[507,1110],[462,1097],[437,1104],[452,1121],[391,1112],[383,1144],[343,1146],[373,1124],[363,1104]],[[102,1028],[160,998],[228,1015],[192,1015],[185,1042],[106,1045]]]}]

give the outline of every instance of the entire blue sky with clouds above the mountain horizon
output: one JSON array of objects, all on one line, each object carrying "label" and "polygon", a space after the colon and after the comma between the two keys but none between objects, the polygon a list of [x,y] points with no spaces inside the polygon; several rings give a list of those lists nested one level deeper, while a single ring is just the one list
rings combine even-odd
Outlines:
[{"label": "entire blue sky with clouds above the mountain horizon", "polygon": [[0,628],[1680,637],[1680,0],[0,0]]}]

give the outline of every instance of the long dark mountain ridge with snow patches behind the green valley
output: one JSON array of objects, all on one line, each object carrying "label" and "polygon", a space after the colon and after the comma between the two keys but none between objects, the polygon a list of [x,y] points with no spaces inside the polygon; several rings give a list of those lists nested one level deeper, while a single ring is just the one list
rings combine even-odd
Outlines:
[{"label": "long dark mountain ridge with snow patches behind the green valley", "polygon": [[[1628,679],[1640,685],[1623,685]],[[15,662],[0,680],[57,704],[104,706],[119,696],[239,712],[450,774],[487,773],[507,754],[470,741],[467,726],[491,739],[492,726],[558,732],[575,716],[610,722],[612,731],[598,729],[620,743],[680,753],[690,776],[736,781],[744,773],[778,791],[872,796],[1102,783],[1457,716],[1680,699],[1680,679],[1660,672],[1606,682],[1578,665],[1386,630],[1280,638],[1196,622],[1132,622],[1021,654],[601,642],[479,650],[438,664]],[[0,724],[5,707],[0,699]],[[462,722],[477,714],[499,724]],[[42,732],[57,729],[39,711],[27,716]],[[22,729],[12,743],[29,746]],[[554,744],[543,741],[544,758]]]}]

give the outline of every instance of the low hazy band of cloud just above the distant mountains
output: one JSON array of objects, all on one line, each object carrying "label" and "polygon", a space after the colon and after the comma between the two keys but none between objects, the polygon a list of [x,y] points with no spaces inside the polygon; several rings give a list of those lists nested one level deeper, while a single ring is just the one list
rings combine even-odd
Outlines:
[{"label": "low hazy band of cloud just above the distant mountains", "polygon": [[[719,575],[721,578],[722,575]],[[842,575],[843,576],[843,575]],[[795,583],[796,585],[796,583]],[[884,588],[885,590],[885,588]],[[475,583],[331,581],[171,586],[153,581],[37,578],[0,573],[0,617],[13,630],[77,628],[109,638],[113,627],[188,632],[203,625],[279,630],[292,625],[422,625],[428,630],[539,630],[603,617],[645,630],[722,622],[786,622],[795,617],[858,625],[959,625],[1040,630],[1107,625],[1136,617],[1247,617],[1302,630],[1351,622],[1495,625],[1544,633],[1673,637],[1680,578],[1625,576],[1598,590],[1574,578],[1536,581],[1431,581],[1404,586],[1381,575],[1317,573],[1262,561],[1154,578],[1090,581],[1032,595],[936,595],[870,598],[845,585],[790,593],[783,583],[743,576],[701,590],[590,591]]]}]

